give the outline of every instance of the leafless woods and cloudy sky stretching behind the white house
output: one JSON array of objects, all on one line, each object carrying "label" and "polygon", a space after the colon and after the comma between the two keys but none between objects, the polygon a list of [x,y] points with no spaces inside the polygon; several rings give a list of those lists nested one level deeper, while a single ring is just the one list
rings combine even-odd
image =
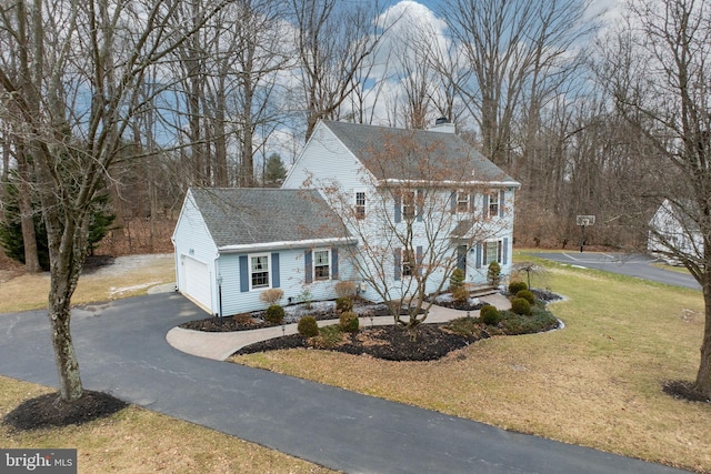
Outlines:
[{"label": "leafless woods and cloudy sky stretching behind the white house", "polygon": [[[97,19],[117,30],[139,28],[142,21],[130,16],[150,11],[139,2],[92,4]],[[120,155],[102,183],[118,230],[98,252],[170,251],[188,186],[274,185],[264,180],[267,157],[280,154],[288,168],[320,118],[402,128],[448,118],[523,184],[518,244],[574,248],[577,214],[598,215],[589,244],[631,248],[645,239],[639,218],[649,219],[661,201],[642,203],[639,195],[663,175],[650,172],[659,151],[615,108],[607,74],[611,63],[634,60],[623,50],[643,38],[633,17],[611,23],[587,0],[449,0],[432,11],[340,0],[160,4],[162,34],[186,39],[141,64],[131,97],[116,109],[132,109],[114,132]],[[86,147],[92,127],[103,127],[87,120],[102,87],[89,79],[91,68],[129,60],[130,48],[104,44],[96,64],[70,61],[90,48],[67,36],[81,16],[40,0],[12,3],[2,14],[6,94],[16,87],[48,90],[34,82],[53,81],[56,97],[37,97],[32,107],[61,102],[71,140]],[[37,50],[38,34],[66,41]],[[642,79],[630,75],[617,87]],[[18,110],[3,104],[1,179],[19,188],[29,241],[30,215],[39,212],[29,198],[32,151]],[[624,212],[630,203],[633,216]]]}]

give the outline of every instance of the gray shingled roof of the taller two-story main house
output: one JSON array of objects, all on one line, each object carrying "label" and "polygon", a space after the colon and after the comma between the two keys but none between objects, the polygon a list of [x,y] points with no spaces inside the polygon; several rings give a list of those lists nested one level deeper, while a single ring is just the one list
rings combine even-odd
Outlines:
[{"label": "gray shingled roof of the taller two-story main house", "polygon": [[[379,180],[452,180],[519,185],[454,133],[332,121],[323,121],[323,124]],[[411,151],[411,157],[391,159],[390,155],[402,150]]]}]

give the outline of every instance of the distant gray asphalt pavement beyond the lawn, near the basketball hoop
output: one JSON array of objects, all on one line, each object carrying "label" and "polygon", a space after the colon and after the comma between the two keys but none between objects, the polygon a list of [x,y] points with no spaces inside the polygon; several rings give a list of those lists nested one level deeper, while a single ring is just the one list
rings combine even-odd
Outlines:
[{"label": "distant gray asphalt pavement beyond the lawn, near the basketball hoop", "polygon": [[657,260],[644,255],[603,252],[529,252],[529,254],[587,269],[603,270],[659,283],[701,290],[701,285],[690,274],[654,266],[652,263]]}]

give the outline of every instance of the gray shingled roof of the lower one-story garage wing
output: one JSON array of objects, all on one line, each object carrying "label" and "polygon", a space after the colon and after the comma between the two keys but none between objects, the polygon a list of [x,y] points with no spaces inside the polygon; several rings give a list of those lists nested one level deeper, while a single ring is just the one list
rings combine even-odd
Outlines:
[{"label": "gray shingled roof of the lower one-story garage wing", "polygon": [[190,190],[218,248],[349,236],[316,190]]}]

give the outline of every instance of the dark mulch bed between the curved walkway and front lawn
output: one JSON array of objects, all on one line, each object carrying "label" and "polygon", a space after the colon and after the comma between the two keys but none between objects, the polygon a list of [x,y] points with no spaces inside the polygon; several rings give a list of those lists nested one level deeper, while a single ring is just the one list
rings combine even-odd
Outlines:
[{"label": "dark mulch bed between the curved walkway and front lawn", "polygon": [[[344,341],[331,351],[353,355],[368,354],[388,361],[434,361],[452,351],[462,349],[479,340],[473,335],[453,334],[443,329],[443,324],[425,324],[418,329],[417,340],[412,341],[408,331],[400,326],[375,326],[361,329],[358,333],[346,334]],[[288,335],[251,344],[234,355],[281,349],[311,347],[309,340],[301,335]]]}]

